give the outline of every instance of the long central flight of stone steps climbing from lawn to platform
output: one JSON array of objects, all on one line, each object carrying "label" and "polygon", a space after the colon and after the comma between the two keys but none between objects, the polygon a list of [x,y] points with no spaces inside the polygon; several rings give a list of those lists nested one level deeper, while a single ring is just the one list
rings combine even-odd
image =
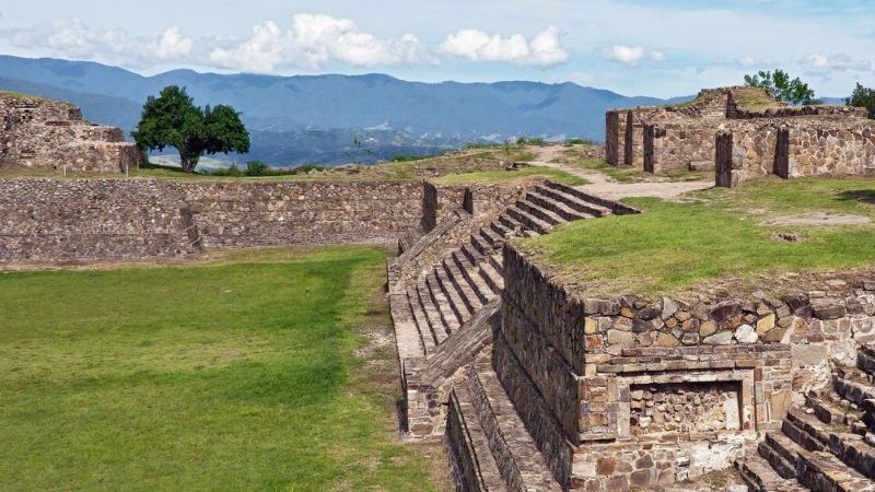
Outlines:
[{"label": "long central flight of stone steps climbing from lawn to platform", "polygon": [[402,331],[397,338],[407,341],[399,353],[429,356],[501,293],[501,248],[510,237],[547,234],[557,224],[612,213],[605,200],[572,187],[552,181],[536,185],[462,247],[445,254],[404,296],[394,296],[396,332]]}]

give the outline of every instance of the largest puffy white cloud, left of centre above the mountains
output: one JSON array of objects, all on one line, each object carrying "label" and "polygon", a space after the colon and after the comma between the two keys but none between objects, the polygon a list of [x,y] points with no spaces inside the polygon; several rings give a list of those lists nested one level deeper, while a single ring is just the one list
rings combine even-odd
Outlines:
[{"label": "largest puffy white cloud, left of centre above the mountains", "polygon": [[331,61],[370,68],[415,63],[421,58],[422,48],[412,34],[384,40],[348,19],[323,14],[294,15],[288,30],[270,21],[258,24],[248,39],[225,43],[209,52],[217,67],[259,73],[281,67],[319,70]]}]

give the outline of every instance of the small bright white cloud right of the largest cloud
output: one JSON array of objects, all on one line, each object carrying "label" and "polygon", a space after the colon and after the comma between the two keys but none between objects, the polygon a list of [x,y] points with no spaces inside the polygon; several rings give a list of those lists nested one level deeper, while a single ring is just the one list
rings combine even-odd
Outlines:
[{"label": "small bright white cloud right of the largest cloud", "polygon": [[503,37],[478,30],[462,30],[450,34],[439,50],[471,61],[504,61],[536,68],[552,67],[569,59],[556,26],[547,27],[530,40],[522,34]]}]

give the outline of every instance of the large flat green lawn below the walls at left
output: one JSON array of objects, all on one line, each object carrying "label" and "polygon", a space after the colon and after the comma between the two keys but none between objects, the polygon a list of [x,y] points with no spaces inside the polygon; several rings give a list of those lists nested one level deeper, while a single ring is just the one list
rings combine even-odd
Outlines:
[{"label": "large flat green lawn below the walls at left", "polygon": [[395,442],[385,258],[0,274],[0,490],[434,490]]}]

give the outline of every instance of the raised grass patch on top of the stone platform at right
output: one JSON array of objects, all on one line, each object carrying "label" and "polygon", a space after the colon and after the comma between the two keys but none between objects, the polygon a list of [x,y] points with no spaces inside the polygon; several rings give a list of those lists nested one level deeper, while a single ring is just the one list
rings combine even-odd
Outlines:
[{"label": "raised grass patch on top of the stone platform at right", "polygon": [[[719,278],[875,262],[875,222],[835,225],[839,215],[875,221],[875,179],[769,178],[689,198],[628,199],[645,212],[579,221],[517,244],[567,280],[605,294],[668,294]],[[813,213],[826,213],[833,225],[786,220]],[[798,241],[782,241],[781,233]]]}]

